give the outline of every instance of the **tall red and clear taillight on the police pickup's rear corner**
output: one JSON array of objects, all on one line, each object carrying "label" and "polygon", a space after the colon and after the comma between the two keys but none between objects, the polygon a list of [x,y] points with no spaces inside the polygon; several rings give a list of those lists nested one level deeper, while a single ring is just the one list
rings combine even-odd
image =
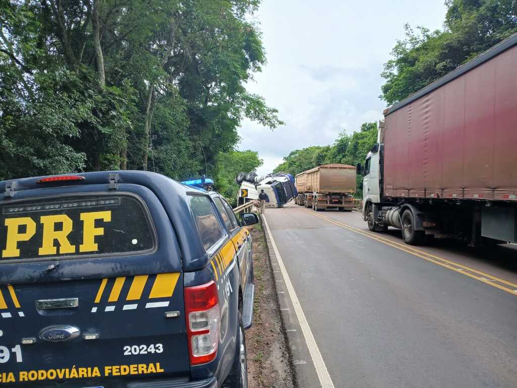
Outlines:
[{"label": "tall red and clear taillight on the police pickup's rear corner", "polygon": [[185,312],[190,365],[214,360],[221,325],[219,297],[214,280],[201,286],[185,287]]}]

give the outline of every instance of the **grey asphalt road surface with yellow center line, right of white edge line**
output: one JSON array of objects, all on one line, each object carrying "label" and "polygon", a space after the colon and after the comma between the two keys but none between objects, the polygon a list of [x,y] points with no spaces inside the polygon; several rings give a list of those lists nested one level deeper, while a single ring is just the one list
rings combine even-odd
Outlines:
[{"label": "grey asphalt road surface with yellow center line, right of white edge line", "polygon": [[517,386],[517,246],[405,250],[357,213],[266,218],[335,387]]}]

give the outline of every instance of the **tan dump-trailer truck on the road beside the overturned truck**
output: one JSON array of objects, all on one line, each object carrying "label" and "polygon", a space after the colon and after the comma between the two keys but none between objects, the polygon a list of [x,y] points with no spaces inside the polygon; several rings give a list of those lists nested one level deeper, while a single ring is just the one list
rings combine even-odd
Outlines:
[{"label": "tan dump-trailer truck on the road beside the overturned truck", "polygon": [[323,165],[296,175],[295,203],[322,212],[328,208],[351,212],[354,208],[356,167]]}]

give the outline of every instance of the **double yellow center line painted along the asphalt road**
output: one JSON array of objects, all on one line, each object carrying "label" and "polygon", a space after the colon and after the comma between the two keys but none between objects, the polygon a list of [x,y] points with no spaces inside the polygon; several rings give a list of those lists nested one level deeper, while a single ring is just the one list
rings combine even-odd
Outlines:
[{"label": "double yellow center line painted along the asphalt road", "polygon": [[[396,249],[399,249],[399,250],[402,250],[406,253],[410,253],[411,255],[414,255],[414,256],[417,256],[417,257],[420,257],[424,260],[427,260],[427,261],[430,261],[434,264],[437,264],[437,265],[441,265],[445,268],[448,268],[449,270],[452,270],[454,272],[458,272],[459,274],[462,274],[462,275],[466,275],[468,277],[471,277],[473,279],[476,279],[476,280],[479,280],[479,281],[482,281],[483,283],[486,283],[490,286],[493,286],[493,287],[496,287],[498,289],[501,289],[503,291],[506,291],[506,292],[509,292],[511,293],[512,295],[517,295],[517,292],[515,290],[517,290],[517,285],[515,285],[514,283],[512,282],[509,282],[507,280],[503,280],[503,279],[499,279],[495,276],[492,276],[492,275],[489,275],[489,274],[486,274],[484,272],[481,272],[481,271],[477,271],[477,270],[474,270],[474,268],[470,268],[470,267],[467,267],[465,265],[462,265],[462,264],[459,264],[459,263],[456,263],[454,261],[450,261],[450,260],[447,260],[447,259],[444,259],[444,258],[441,258],[439,256],[436,256],[436,255],[432,255],[431,253],[428,253],[428,252],[425,252],[425,251],[422,251],[422,250],[419,250],[419,249],[416,249],[416,248],[413,248],[413,247],[409,247],[407,245],[403,245],[401,243],[397,243],[395,241],[391,241],[389,240],[388,238],[385,238],[385,237],[381,237],[381,236],[377,236],[373,233],[370,233],[370,232],[365,232],[363,230],[360,230],[360,229],[357,229],[357,228],[354,228],[354,227],[351,227],[349,225],[346,225],[345,223],[342,223],[342,222],[339,222],[339,221],[336,221],[332,218],[329,218],[329,217],[325,217],[321,214],[317,214],[315,212],[311,212],[309,210],[305,210],[305,209],[300,209],[302,211],[305,211],[309,214],[312,214],[313,216],[316,216],[316,217],[320,217],[326,221],[329,221],[331,223],[333,223],[334,225],[337,225],[339,227],[342,227],[342,228],[345,228],[345,229],[348,229],[352,232],[355,232],[355,233],[359,233],[359,234],[362,234],[363,236],[366,236],[366,237],[369,237],[369,238],[372,238],[373,240],[376,240],[378,241],[379,243],[383,243],[383,244],[386,244],[386,245],[389,245],[393,248],[396,248]],[[443,261],[443,262],[440,262],[440,261]],[[454,268],[452,267],[451,265],[454,265],[454,266],[457,266],[459,268]],[[478,274],[478,275],[481,275],[482,277],[479,277],[479,276],[476,276],[474,274],[469,274],[468,272],[466,271],[469,271],[469,272],[473,272],[475,274]],[[486,279],[485,279],[486,278]],[[509,285],[509,286],[512,286],[514,287],[513,289],[510,289],[510,288],[506,288],[506,287],[503,287],[503,286],[500,286],[496,283],[494,283],[493,281],[497,281],[497,282],[500,282],[500,283],[504,283],[506,285]]]}]

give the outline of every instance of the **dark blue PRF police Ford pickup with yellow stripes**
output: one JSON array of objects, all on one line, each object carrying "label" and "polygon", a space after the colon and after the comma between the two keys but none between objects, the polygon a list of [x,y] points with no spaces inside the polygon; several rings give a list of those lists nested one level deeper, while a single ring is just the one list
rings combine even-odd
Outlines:
[{"label": "dark blue PRF police Ford pickup with yellow stripes", "polygon": [[149,172],[0,182],[0,387],[246,387],[257,221]]}]

